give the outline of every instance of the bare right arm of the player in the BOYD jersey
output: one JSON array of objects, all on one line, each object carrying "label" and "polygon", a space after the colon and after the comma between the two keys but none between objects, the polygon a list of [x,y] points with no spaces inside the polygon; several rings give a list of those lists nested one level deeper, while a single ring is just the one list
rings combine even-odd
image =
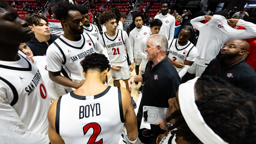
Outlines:
[{"label": "bare right arm of the player in the BOYD jersey", "polygon": [[[130,141],[134,141],[138,137],[137,118],[133,109],[132,97],[127,89],[121,87],[122,105],[124,114],[124,126],[127,130],[127,137]],[[136,144],[135,142],[134,144]]]}]

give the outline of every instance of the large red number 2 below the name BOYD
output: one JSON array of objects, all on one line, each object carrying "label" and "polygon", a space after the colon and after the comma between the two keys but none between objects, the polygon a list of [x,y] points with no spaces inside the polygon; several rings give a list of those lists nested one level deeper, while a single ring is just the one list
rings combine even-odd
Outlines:
[{"label": "large red number 2 below the name BOYD", "polygon": [[84,135],[87,133],[87,131],[88,131],[90,128],[93,128],[94,133],[91,135],[91,137],[90,137],[89,141],[87,142],[87,144],[102,144],[102,143],[103,143],[103,139],[99,140],[98,142],[95,142],[96,138],[98,137],[98,135],[99,135],[100,132],[101,132],[101,127],[100,127],[100,125],[97,124],[97,123],[89,123],[89,124],[86,124],[86,125],[83,127]]}]

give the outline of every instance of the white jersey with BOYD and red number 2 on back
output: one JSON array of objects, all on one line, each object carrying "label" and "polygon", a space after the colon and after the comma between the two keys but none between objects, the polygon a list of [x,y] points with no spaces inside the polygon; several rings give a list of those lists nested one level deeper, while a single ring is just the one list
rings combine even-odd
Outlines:
[{"label": "white jersey with BOYD and red number 2 on back", "polygon": [[65,144],[118,144],[124,130],[120,88],[108,86],[94,96],[79,96],[73,91],[61,96],[55,128]]}]

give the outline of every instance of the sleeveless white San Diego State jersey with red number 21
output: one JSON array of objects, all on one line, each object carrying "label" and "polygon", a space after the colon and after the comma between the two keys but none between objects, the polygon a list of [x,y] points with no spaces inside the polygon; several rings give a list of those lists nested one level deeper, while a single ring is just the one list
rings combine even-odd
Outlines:
[{"label": "sleeveless white San Diego State jersey with red number 21", "polygon": [[[110,58],[112,65],[120,65],[120,63],[125,63],[127,65],[127,55],[126,55],[126,46],[123,39],[123,31],[117,29],[117,34],[114,36],[114,39],[110,39],[106,32],[102,34],[102,40],[107,48],[107,53]],[[99,39],[99,41],[101,41]]]}]

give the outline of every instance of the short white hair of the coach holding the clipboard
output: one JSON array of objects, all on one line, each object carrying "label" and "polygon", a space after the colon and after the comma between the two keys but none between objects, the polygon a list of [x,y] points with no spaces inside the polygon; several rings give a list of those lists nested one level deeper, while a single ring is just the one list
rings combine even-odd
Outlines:
[{"label": "short white hair of the coach holding the clipboard", "polygon": [[149,39],[150,38],[153,38],[153,46],[161,46],[162,52],[166,54],[168,47],[168,40],[166,36],[164,36],[163,34],[153,34],[149,37]]}]

